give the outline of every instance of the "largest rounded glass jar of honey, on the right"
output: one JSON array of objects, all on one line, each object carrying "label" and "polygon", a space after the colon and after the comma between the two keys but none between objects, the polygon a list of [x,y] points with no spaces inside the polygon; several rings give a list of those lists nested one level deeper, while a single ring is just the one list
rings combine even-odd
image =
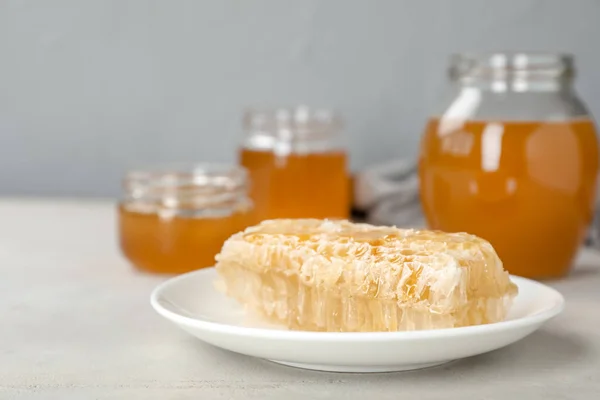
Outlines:
[{"label": "largest rounded glass jar of honey, on the right", "polygon": [[563,54],[451,59],[449,97],[431,115],[420,191],[431,228],[491,242],[512,274],[568,272],[592,220],[594,122]]}]

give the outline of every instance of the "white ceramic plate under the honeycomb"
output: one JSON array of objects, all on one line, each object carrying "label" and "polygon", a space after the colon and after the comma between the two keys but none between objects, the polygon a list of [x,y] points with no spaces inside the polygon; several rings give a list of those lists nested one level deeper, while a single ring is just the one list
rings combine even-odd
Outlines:
[{"label": "white ceramic plate under the honeycomb", "polygon": [[321,371],[385,372],[425,368],[514,343],[559,314],[560,293],[511,277],[519,295],[504,322],[414,332],[302,332],[248,323],[241,306],[214,288],[214,268],[172,278],[152,293],[163,317],[214,346]]}]

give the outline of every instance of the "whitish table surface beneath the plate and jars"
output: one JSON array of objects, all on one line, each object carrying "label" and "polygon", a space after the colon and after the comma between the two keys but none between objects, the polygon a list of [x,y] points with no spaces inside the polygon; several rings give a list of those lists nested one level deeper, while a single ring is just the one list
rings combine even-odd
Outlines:
[{"label": "whitish table surface beneath the plate and jars", "polygon": [[552,283],[566,311],[482,356],[416,372],[319,373],[232,354],[151,309],[111,202],[0,201],[0,399],[600,398],[600,256]]}]

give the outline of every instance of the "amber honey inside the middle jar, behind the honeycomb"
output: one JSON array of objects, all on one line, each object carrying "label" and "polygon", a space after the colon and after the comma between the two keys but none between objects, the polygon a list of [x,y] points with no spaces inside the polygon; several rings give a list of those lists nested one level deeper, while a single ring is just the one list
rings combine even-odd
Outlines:
[{"label": "amber honey inside the middle jar, behind the honeycomb", "polygon": [[259,219],[348,218],[346,153],[291,153],[242,149],[240,164],[251,181],[250,197]]}]

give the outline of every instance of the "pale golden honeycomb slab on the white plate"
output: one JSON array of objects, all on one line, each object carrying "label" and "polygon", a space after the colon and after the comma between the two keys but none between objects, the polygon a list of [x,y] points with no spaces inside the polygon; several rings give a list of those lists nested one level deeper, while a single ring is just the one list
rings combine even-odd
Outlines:
[{"label": "pale golden honeycomb slab on the white plate", "polygon": [[231,236],[216,261],[228,296],[292,330],[488,324],[517,295],[490,243],[467,233],[268,220]]}]

